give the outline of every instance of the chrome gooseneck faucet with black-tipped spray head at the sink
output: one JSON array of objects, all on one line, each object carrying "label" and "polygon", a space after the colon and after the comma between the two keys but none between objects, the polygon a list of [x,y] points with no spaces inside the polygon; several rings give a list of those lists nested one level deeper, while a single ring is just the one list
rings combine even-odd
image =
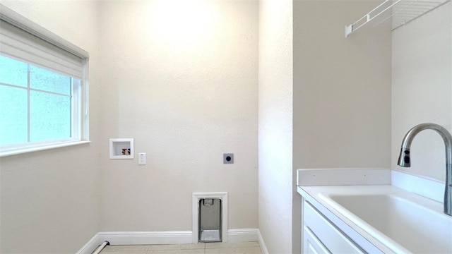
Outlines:
[{"label": "chrome gooseneck faucet with black-tipped spray head at the sink", "polygon": [[424,130],[434,130],[444,140],[446,145],[446,189],[444,190],[444,213],[452,216],[452,136],[446,128],[436,123],[421,123],[411,128],[402,141],[402,149],[397,164],[401,167],[410,167],[410,147],[412,139],[417,133]]}]

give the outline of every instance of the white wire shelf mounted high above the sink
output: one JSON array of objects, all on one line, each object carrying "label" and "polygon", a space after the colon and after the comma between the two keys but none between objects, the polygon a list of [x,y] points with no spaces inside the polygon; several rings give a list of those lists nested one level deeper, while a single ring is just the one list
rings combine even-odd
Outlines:
[{"label": "white wire shelf mounted high above the sink", "polygon": [[392,30],[396,30],[449,1],[451,0],[386,0],[355,23],[345,25],[345,37],[350,37],[352,32],[369,23],[379,25],[390,20]]}]

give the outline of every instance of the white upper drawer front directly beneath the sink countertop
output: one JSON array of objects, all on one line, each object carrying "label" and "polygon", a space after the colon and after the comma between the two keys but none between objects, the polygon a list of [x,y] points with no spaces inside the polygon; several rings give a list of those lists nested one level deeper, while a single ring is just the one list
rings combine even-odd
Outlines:
[{"label": "white upper drawer front directly beneath the sink countertop", "polygon": [[364,253],[364,251],[345,236],[336,226],[323,217],[309,202],[303,204],[303,221],[312,233],[319,238],[331,253]]}]

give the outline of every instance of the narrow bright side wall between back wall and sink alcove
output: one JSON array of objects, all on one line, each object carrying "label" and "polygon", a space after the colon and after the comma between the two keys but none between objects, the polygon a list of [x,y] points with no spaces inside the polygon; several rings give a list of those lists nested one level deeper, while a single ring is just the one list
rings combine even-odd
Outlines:
[{"label": "narrow bright side wall between back wall and sink alcove", "polygon": [[292,1],[259,1],[259,230],[292,253]]}]

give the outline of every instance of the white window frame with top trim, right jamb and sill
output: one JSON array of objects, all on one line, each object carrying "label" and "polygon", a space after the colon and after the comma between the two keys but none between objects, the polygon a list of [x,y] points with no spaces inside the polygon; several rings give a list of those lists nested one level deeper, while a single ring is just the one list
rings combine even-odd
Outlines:
[{"label": "white window frame with top trim, right jamb and sill", "polygon": [[0,4],[0,19],[11,25],[35,35],[45,42],[53,44],[55,47],[64,49],[82,59],[82,79],[81,85],[73,89],[72,95],[72,123],[71,138],[62,140],[51,140],[45,142],[21,143],[14,145],[0,145],[0,157],[8,155],[18,155],[25,152],[35,152],[40,150],[54,149],[57,147],[66,147],[70,145],[80,145],[90,143],[89,140],[89,107],[88,107],[88,59],[89,54],[85,50],[77,47],[55,35],[40,25],[21,16],[10,8]]}]

